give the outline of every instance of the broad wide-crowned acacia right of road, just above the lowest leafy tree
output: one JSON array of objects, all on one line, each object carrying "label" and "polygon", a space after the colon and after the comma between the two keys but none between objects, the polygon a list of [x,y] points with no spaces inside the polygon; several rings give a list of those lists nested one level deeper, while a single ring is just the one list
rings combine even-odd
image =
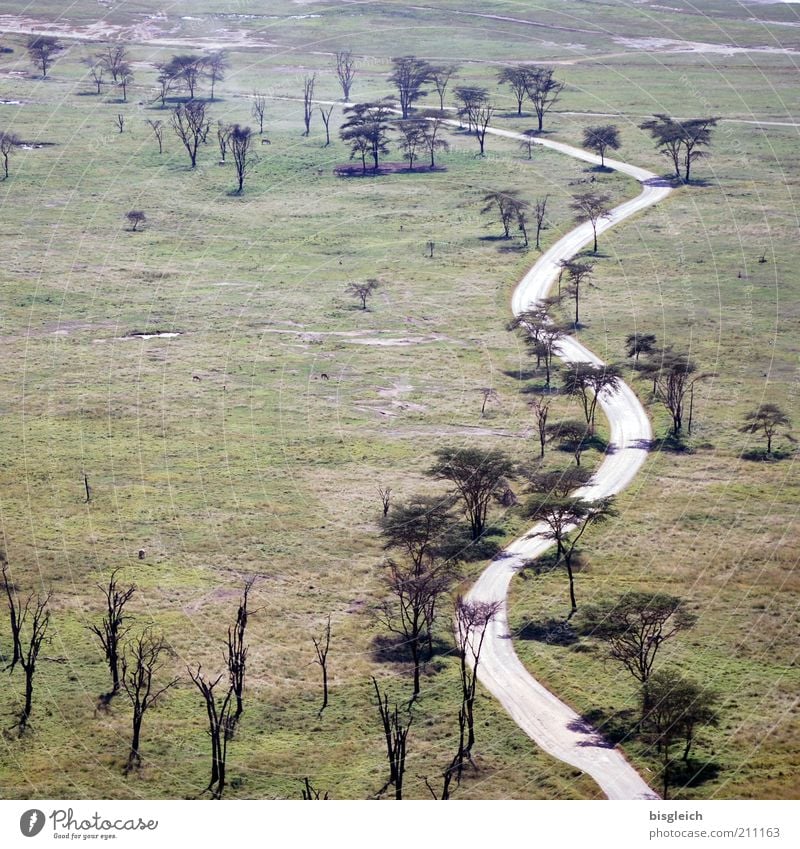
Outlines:
[{"label": "broad wide-crowned acacia right of road, just above the lowest leafy tree", "polygon": [[609,655],[639,682],[645,716],[650,705],[648,681],[661,646],[691,628],[697,617],[686,610],[677,596],[628,592],[587,608],[583,618],[584,631],[606,643]]}]

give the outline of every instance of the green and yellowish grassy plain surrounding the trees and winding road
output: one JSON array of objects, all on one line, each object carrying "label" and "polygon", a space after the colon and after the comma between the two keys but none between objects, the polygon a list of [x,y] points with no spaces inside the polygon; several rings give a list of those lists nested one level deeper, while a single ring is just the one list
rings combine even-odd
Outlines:
[{"label": "green and yellowish grassy plain surrounding the trees and winding road", "polygon": [[[184,797],[204,786],[204,713],[190,684],[146,717],[138,777],[121,774],[127,709],[120,702],[110,715],[95,712],[107,684],[86,625],[100,615],[95,585],[118,566],[139,587],[139,624],[152,620],[164,632],[178,673],[200,662],[220,668],[239,588],[258,576],[249,702],[229,758],[232,797],[296,797],[306,775],[335,798],[374,794],[385,767],[369,679],[381,678],[398,699],[409,687],[405,665],[380,662],[373,647],[384,557],[377,486],[397,498],[441,491],[424,471],[443,445],[535,456],[530,396],[520,389],[536,381],[520,380],[527,356],[504,324],[510,291],[536,254],[494,238],[481,197],[507,186],[531,199],[549,193],[549,244],[571,226],[570,194],[592,176],[616,198],[637,191],[547,151],[529,163],[511,142],[492,139],[489,155],[476,159],[476,142],[461,134],[440,172],[343,180],[333,169],[346,161],[344,147],[322,146],[318,119],[301,138],[300,105],[273,99],[272,143],[259,149],[237,197],[213,146],[192,172],[168,129],[159,156],[145,120],[166,121],[168,112],[148,105],[148,63],[178,46],[227,45],[232,69],[212,118],[252,123],[255,88],[296,97],[309,70],[319,71],[320,98],[337,97],[329,53],[344,47],[363,57],[358,98],[389,93],[389,57],[403,51],[459,60],[459,79],[484,85],[493,85],[499,62],[569,62],[559,68],[569,88],[549,135],[579,143],[596,117],[572,113],[611,113],[622,128],[620,156],[659,171],[665,161],[636,129],[653,111],[794,120],[791,54],[655,53],[614,40],[795,48],[794,31],[780,25],[796,19],[791,8],[750,6],[745,15],[709,3],[705,18],[687,7],[684,19],[627,4],[543,3],[535,15],[529,4],[491,4],[492,13],[543,24],[531,26],[452,14],[482,14],[485,3],[431,5],[408,12],[387,2],[367,12],[271,3],[262,20],[246,17],[256,4],[223,12],[173,4],[168,19],[147,22],[147,4],[120,4],[103,19],[132,42],[127,104],[90,93],[81,65],[90,47],[79,40],[40,81],[23,37],[3,37],[15,52],[0,56],[0,95],[22,103],[0,105],[0,129],[45,146],[12,154],[11,178],[0,184],[0,518],[17,582],[54,590],[47,652],[64,661],[37,673],[30,733],[0,744],[3,797]],[[38,4],[38,24],[92,34],[81,28],[97,20],[96,4],[73,4],[68,17],[59,10]],[[776,23],[747,20],[767,10]],[[223,14],[243,17],[221,23]],[[320,17],[298,17],[305,14]],[[32,17],[15,4],[0,15]],[[0,17],[0,31],[7,25]],[[127,119],[122,134],[118,113]],[[796,144],[794,127],[720,124],[712,158],[698,164],[702,185],[602,238],[597,288],[583,308],[581,336],[601,356],[621,359],[625,335],[641,328],[690,347],[718,375],[699,393],[692,450],[654,452],[621,497],[621,518],[587,537],[578,579],[579,601],[668,587],[701,615],[672,659],[721,693],[723,722],[700,748],[719,772],[682,789],[686,796],[798,790],[795,465],[743,459],[757,445],[738,432],[762,399],[800,418]],[[143,232],[126,229],[129,209],[146,211]],[[758,263],[762,253],[767,262]],[[382,287],[361,311],[344,290],[366,277]],[[142,340],[137,332],[180,335]],[[647,385],[634,384],[649,402]],[[487,385],[499,398],[482,418]],[[557,403],[566,414],[568,399]],[[651,409],[663,435],[664,411]],[[566,461],[551,451],[547,462]],[[494,519],[498,539],[524,527],[513,511]],[[465,579],[480,568],[467,564]],[[515,581],[515,629],[564,612],[563,584],[560,575]],[[328,613],[332,704],[318,720],[311,636]],[[455,746],[457,670],[444,625],[440,636],[409,738],[407,792],[420,798],[424,778],[433,781]],[[629,682],[591,641],[579,650],[517,645],[534,674],[579,711],[609,715],[631,704]],[[20,682],[15,675],[0,694],[6,726]],[[479,708],[478,770],[459,796],[598,794],[535,749],[487,695]],[[626,751],[654,768],[640,744]]]}]

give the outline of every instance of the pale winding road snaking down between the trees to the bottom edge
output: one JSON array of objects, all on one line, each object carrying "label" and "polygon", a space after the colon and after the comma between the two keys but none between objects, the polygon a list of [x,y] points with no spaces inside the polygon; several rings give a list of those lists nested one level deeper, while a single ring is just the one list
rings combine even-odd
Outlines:
[{"label": "pale winding road snaking down between the trees to the bottom edge", "polygon": [[[506,138],[525,138],[507,130],[490,132]],[[589,163],[600,163],[599,157],[561,142],[539,139],[537,143]],[[658,203],[671,191],[666,181],[643,168],[610,159],[605,164],[638,180],[642,192],[612,210],[610,218],[599,223],[598,233]],[[514,290],[511,298],[514,314],[545,297],[560,270],[558,263],[575,256],[591,240],[592,229],[587,223],[571,230],[549,248]],[[557,353],[565,362],[602,362],[573,337],[564,339]],[[652,439],[647,414],[627,384],[622,384],[613,395],[601,393],[599,403],[611,427],[611,444],[591,484],[577,492],[586,498],[614,495],[624,489],[644,463]],[[541,525],[531,528],[504,549],[467,595],[473,602],[500,602],[500,611],[490,624],[483,645],[478,678],[529,737],[549,754],[591,775],[609,799],[657,799],[658,795],[622,753],[536,681],[514,652],[508,627],[508,588],[524,563],[550,548],[551,543],[536,536],[542,529]]]}]

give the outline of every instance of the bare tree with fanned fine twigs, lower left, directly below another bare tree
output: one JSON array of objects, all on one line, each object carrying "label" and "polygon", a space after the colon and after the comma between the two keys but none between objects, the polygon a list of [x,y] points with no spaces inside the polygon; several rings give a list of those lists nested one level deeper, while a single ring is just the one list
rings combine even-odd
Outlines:
[{"label": "bare tree with fanned fine twigs, lower left, directly below another bare tree", "polygon": [[155,685],[154,678],[164,669],[164,654],[169,655],[171,652],[163,637],[155,636],[150,628],[146,628],[126,647],[122,655],[122,687],[133,707],[133,733],[126,773],[137,769],[142,763],[139,740],[145,713],[179,680],[173,678],[162,687]]}]

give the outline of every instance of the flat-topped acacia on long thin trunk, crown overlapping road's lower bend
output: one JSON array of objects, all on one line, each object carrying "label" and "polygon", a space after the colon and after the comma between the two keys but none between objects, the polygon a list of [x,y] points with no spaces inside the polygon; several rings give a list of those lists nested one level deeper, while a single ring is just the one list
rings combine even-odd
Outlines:
[{"label": "flat-topped acacia on long thin trunk, crown overlapping road's lower bend", "polygon": [[567,571],[569,578],[569,620],[578,610],[575,599],[575,576],[573,571],[575,549],[586,529],[600,524],[616,515],[613,498],[601,498],[587,501],[574,496],[553,496],[545,493],[535,494],[528,502],[527,515],[542,522],[545,529],[534,536],[542,537],[556,544],[557,562]]}]

